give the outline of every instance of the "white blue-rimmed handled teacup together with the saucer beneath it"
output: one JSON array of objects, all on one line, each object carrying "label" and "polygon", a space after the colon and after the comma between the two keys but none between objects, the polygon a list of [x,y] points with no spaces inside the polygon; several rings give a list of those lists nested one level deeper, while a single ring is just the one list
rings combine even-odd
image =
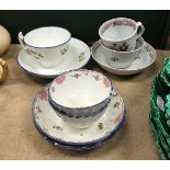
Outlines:
[{"label": "white blue-rimmed handled teacup together with the saucer beneath it", "polygon": [[25,36],[19,33],[22,49],[18,63],[25,71],[42,78],[79,69],[90,59],[89,46],[71,37],[69,31],[57,26],[35,29]]}]

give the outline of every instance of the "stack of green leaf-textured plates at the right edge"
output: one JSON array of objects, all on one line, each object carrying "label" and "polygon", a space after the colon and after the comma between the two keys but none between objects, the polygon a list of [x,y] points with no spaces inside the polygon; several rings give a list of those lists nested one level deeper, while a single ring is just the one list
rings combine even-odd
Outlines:
[{"label": "stack of green leaf-textured plates at the right edge", "polygon": [[152,80],[149,124],[162,159],[170,159],[170,58]]}]

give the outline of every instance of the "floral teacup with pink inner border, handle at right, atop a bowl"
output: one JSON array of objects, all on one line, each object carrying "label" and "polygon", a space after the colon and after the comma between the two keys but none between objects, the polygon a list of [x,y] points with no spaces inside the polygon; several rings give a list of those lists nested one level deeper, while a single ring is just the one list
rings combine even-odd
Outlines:
[{"label": "floral teacup with pink inner border, handle at right, atop a bowl", "polygon": [[104,22],[99,29],[102,44],[107,48],[128,52],[136,47],[138,39],[145,31],[141,22],[132,19],[117,18]]}]

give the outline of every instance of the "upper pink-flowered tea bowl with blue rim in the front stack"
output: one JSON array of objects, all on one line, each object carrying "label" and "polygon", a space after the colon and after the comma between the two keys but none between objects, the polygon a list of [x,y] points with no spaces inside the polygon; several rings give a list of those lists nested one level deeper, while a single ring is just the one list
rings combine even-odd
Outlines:
[{"label": "upper pink-flowered tea bowl with blue rim in the front stack", "polygon": [[71,70],[58,76],[49,86],[49,101],[69,116],[89,116],[111,101],[112,83],[97,71]]}]

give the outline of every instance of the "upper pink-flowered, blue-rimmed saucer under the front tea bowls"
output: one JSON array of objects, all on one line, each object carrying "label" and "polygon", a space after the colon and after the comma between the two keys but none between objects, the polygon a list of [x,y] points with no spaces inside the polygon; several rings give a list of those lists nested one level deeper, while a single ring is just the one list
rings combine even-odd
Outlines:
[{"label": "upper pink-flowered, blue-rimmed saucer under the front tea bowls", "polygon": [[113,90],[111,103],[103,116],[89,128],[67,125],[48,103],[48,86],[39,90],[32,106],[33,121],[45,136],[56,144],[69,146],[99,145],[111,138],[123,125],[125,105],[121,94]]}]

